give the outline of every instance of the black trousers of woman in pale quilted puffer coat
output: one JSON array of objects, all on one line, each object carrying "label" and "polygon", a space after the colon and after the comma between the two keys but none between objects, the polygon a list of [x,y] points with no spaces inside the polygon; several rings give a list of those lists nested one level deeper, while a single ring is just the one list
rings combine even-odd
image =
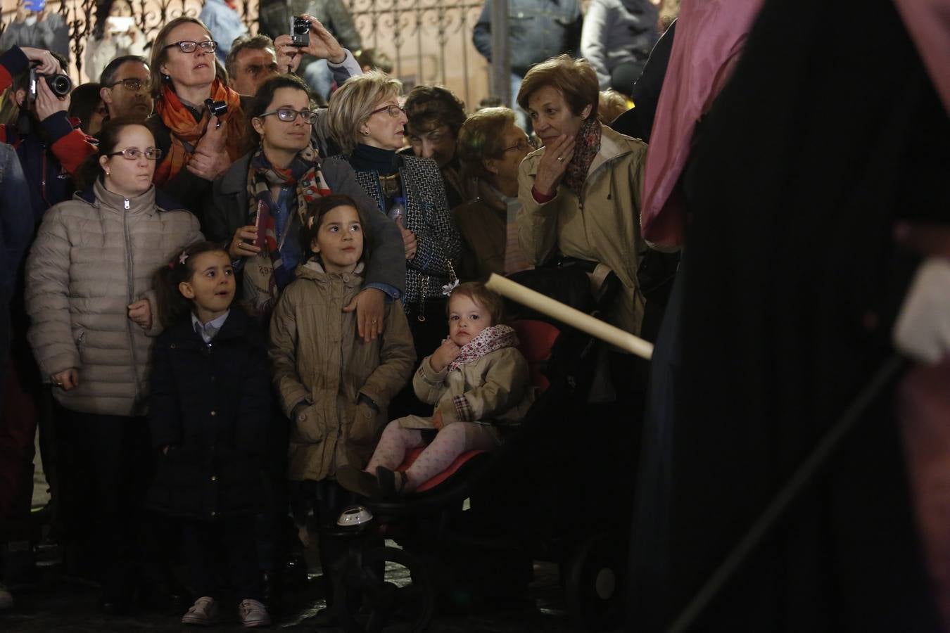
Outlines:
[{"label": "black trousers of woman in pale quilted puffer coat", "polygon": [[66,564],[101,577],[105,600],[128,600],[142,571],[140,500],[152,473],[144,418],[57,406]]}]

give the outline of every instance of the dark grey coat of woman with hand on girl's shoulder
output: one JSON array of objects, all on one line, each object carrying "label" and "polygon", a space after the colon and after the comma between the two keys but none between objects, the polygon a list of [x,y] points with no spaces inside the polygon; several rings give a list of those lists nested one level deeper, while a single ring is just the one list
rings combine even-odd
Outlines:
[{"label": "dark grey coat of woman with hand on girl's shoulder", "polygon": [[[237,229],[248,224],[247,173],[251,167],[247,154],[231,165],[224,176],[215,180],[211,198],[204,206],[204,229],[208,239],[227,243]],[[320,166],[334,194],[349,195],[356,202],[367,234],[370,259],[366,267],[367,283],[382,283],[403,292],[406,288],[406,249],[395,223],[356,182],[346,161],[324,160]]]}]

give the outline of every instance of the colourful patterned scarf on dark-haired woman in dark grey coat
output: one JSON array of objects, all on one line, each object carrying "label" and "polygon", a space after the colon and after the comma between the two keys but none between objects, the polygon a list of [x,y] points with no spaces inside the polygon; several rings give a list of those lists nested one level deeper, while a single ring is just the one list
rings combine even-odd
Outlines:
[{"label": "colourful patterned scarf on dark-haired woman in dark grey coat", "polygon": [[[283,234],[277,235],[276,209],[272,207],[270,188],[275,186],[296,185],[296,209],[292,210],[291,217],[287,218]],[[307,217],[307,203],[323,195],[330,195],[330,187],[320,171],[319,154],[313,145],[300,150],[286,169],[275,167],[264,156],[262,148],[258,148],[251,157],[251,169],[247,174],[248,224],[254,224],[257,219],[257,209],[260,209],[258,226],[264,233],[264,248],[262,254],[271,258],[274,266],[274,281],[278,289],[286,288],[294,281],[294,270],[287,270],[281,261],[281,251],[287,235],[291,233],[291,224],[294,215],[303,224]],[[296,213],[294,214],[293,211]],[[306,259],[306,257],[305,257]]]}]

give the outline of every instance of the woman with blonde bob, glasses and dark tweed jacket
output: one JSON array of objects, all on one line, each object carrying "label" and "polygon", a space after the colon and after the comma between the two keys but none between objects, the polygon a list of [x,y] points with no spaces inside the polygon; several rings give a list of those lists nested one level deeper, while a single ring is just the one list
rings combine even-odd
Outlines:
[{"label": "woman with blonde bob, glasses and dark tweed jacket", "polygon": [[[448,214],[438,164],[431,158],[397,153],[408,121],[399,107],[401,91],[398,80],[378,71],[340,86],[330,98],[328,123],[343,154],[325,164],[348,162],[380,210],[390,217],[398,215],[406,251],[403,305],[418,358],[423,358],[445,336],[443,287],[455,280],[453,267],[461,242]],[[414,396],[409,393],[407,398]]]}]

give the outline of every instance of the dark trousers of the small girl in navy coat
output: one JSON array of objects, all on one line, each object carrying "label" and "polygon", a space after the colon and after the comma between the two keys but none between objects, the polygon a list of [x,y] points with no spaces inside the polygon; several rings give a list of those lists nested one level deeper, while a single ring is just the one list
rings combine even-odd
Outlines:
[{"label": "dark trousers of the small girl in navy coat", "polygon": [[261,600],[254,516],[182,521],[181,545],[196,598],[220,599],[218,579],[226,569],[237,600]]}]

